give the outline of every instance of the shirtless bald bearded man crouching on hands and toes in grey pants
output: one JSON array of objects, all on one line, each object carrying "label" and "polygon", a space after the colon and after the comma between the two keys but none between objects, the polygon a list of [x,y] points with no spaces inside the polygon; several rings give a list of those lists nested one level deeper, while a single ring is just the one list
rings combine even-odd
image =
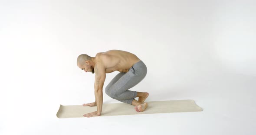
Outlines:
[{"label": "shirtless bald bearded man crouching on hands and toes in grey pants", "polygon": [[[121,50],[100,52],[95,57],[79,55],[77,66],[85,72],[92,72],[92,74],[95,72],[95,102],[83,104],[83,106],[97,106],[97,111],[87,113],[85,117],[101,115],[102,90],[106,73],[114,71],[120,73],[108,84],[105,93],[113,99],[134,105],[137,112],[143,112],[148,107],[148,103],[144,103],[148,93],[128,90],[138,84],[147,74],[146,65],[136,55]],[[138,97],[138,101],[135,97]]]}]

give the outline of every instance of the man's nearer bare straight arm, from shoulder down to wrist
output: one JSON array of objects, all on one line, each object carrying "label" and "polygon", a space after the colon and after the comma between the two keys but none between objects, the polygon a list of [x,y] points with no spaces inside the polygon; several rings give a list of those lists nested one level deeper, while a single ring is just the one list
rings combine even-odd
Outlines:
[{"label": "man's nearer bare straight arm, from shoulder down to wrist", "polygon": [[95,65],[95,83],[94,83],[94,93],[95,100],[97,104],[97,114],[102,113],[102,103],[103,103],[103,85],[106,78],[105,67],[98,63]]}]

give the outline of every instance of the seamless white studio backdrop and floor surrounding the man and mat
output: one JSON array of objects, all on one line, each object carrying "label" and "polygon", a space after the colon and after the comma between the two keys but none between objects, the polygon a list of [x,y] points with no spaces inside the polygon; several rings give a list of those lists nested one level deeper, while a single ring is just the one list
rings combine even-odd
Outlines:
[{"label": "seamless white studio backdrop and floor surrounding the man and mat", "polygon": [[[254,135],[255,5],[1,0],[0,135]],[[146,101],[190,99],[203,111],[58,119],[60,104],[95,100],[94,75],[76,66],[77,56],[111,49],[147,65],[131,89],[150,93]]]}]

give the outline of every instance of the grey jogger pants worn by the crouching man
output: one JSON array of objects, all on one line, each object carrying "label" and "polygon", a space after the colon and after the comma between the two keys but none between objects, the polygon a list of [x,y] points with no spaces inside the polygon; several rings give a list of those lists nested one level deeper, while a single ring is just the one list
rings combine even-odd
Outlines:
[{"label": "grey jogger pants worn by the crouching man", "polygon": [[146,65],[142,61],[139,61],[127,73],[117,74],[105,88],[105,92],[113,99],[131,104],[132,100],[137,96],[137,92],[128,89],[141,82],[146,74]]}]

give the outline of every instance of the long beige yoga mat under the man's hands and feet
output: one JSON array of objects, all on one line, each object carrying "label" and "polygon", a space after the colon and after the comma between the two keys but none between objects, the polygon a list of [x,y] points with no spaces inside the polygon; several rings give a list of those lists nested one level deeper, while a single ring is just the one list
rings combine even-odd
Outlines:
[{"label": "long beige yoga mat under the man's hands and feet", "polygon": [[[197,106],[194,100],[171,100],[147,102],[148,108],[144,112],[136,112],[134,107],[127,103],[106,103],[102,105],[101,116],[135,115],[152,113],[175,113],[175,112],[197,112],[202,109]],[[97,106],[89,107],[82,105],[59,106],[58,118],[84,117],[86,113],[97,110]]]}]

